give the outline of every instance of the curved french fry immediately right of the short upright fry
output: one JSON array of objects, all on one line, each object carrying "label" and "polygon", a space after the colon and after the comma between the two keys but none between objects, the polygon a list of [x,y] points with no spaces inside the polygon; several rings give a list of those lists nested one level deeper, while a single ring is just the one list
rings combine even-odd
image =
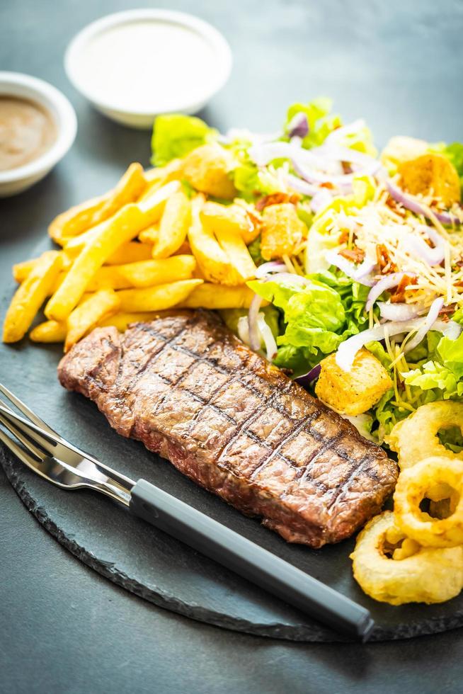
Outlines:
[{"label": "curved french fry immediately right of the short upright fry", "polygon": [[200,270],[207,280],[217,284],[240,285],[243,280],[229,263],[229,258],[217,243],[211,231],[202,226],[200,210],[203,195],[197,195],[191,203],[191,224],[188,229],[188,243],[198,261]]}]

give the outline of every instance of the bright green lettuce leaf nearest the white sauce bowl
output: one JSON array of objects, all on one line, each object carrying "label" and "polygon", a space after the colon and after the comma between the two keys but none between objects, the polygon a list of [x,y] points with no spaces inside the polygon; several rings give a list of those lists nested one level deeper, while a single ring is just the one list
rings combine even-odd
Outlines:
[{"label": "bright green lettuce leaf nearest the white sauce bowl", "polygon": [[152,135],[152,164],[164,166],[171,159],[185,157],[192,149],[211,142],[217,130],[192,115],[171,113],[159,115],[154,121]]}]

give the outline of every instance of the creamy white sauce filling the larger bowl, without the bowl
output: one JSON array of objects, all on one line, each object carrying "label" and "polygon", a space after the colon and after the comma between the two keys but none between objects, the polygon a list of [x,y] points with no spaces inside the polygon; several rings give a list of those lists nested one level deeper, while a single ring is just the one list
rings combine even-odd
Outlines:
[{"label": "creamy white sauce filling the larger bowl, without the bowl", "polygon": [[116,25],[91,38],[77,72],[81,84],[114,108],[161,113],[199,100],[217,79],[215,62],[198,33],[153,19]]}]

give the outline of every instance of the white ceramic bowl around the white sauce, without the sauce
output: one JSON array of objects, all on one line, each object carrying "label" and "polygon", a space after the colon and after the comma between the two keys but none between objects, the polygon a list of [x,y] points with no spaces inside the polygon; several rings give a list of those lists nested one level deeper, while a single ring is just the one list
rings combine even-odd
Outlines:
[{"label": "white ceramic bowl around the white sauce, without the sauce", "polygon": [[[204,80],[204,84],[198,84],[198,89],[194,90],[194,94],[191,93],[191,89],[186,98],[185,94],[175,93],[172,98],[170,96],[162,98],[161,105],[159,95],[156,95],[156,91],[153,89],[152,98],[151,95],[149,96],[149,108],[137,110],[131,106],[129,98],[125,101],[122,97],[118,100],[105,98],[101,90],[96,89],[95,85],[91,84],[92,80],[88,74],[83,74],[82,58],[87,50],[91,50],[90,47],[94,45],[96,38],[101,38],[104,33],[119,28],[121,25],[141,22],[156,23],[158,26],[174,25],[183,31],[193,32],[197,38],[205,42],[207,50],[211,52],[213,58],[207,80]],[[146,69],[146,66],[142,67]],[[129,127],[150,128],[154,118],[159,113],[197,113],[205,106],[207,101],[210,101],[210,98],[224,86],[229,78],[232,70],[232,52],[222,34],[197,17],[170,10],[137,9],[108,15],[81,30],[69,44],[64,56],[64,68],[74,87],[108,118]],[[162,62],[152,65],[151,69],[162,70]],[[185,59],[185,70],[188,70],[188,59]],[[147,72],[149,74],[149,70]],[[147,84],[147,89],[149,89],[149,84]]]}]

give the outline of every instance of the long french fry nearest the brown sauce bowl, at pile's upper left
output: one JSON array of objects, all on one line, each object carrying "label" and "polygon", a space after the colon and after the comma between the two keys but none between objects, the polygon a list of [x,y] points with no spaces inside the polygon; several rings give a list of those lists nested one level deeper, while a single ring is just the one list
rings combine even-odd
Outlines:
[{"label": "long french fry nearest the brown sauce bowl, at pile's upper left", "polygon": [[112,217],[124,205],[138,200],[145,188],[147,180],[143,167],[137,163],[130,164],[113,190],[62,212],[50,224],[48,233],[57,244],[64,245],[67,237],[81,234]]}]

